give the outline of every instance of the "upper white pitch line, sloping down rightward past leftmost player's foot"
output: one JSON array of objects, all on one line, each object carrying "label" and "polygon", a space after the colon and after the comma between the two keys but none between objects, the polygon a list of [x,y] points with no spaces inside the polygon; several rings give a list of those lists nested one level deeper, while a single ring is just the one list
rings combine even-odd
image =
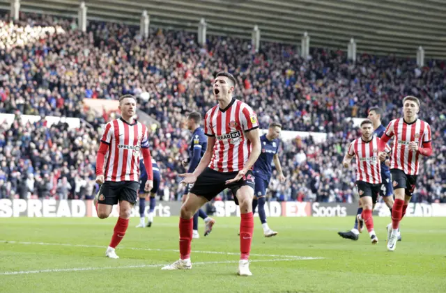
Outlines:
[{"label": "upper white pitch line, sloping down rightward past leftmost player's foot", "polygon": [[[72,247],[92,247],[92,248],[105,248],[105,246],[100,245],[86,245],[86,244],[64,244],[64,243],[45,243],[45,242],[23,242],[23,241],[8,241],[8,240],[0,240],[0,243],[8,243],[8,244],[23,244],[23,245],[54,245],[54,246],[72,246]],[[160,248],[137,248],[137,247],[125,247],[119,246],[119,249],[131,249],[132,251],[167,251],[167,252],[175,252],[179,253],[178,249],[160,249]],[[240,253],[229,253],[222,251],[192,251],[192,253],[207,253],[207,254],[220,254],[220,255],[240,255]],[[249,253],[251,256],[261,256],[261,257],[270,257],[270,258],[295,258],[296,260],[322,260],[323,258],[312,258],[306,256],[299,255],[275,255],[275,254],[256,254]]]}]

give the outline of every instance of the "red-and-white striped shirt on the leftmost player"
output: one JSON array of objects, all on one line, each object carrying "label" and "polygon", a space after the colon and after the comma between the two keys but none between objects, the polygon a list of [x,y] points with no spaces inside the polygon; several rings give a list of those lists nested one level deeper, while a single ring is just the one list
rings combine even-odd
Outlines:
[{"label": "red-and-white striped shirt on the leftmost player", "polygon": [[112,120],[105,125],[100,141],[109,145],[105,181],[139,182],[139,153],[148,148],[146,125],[137,120],[132,124],[122,118]]}]

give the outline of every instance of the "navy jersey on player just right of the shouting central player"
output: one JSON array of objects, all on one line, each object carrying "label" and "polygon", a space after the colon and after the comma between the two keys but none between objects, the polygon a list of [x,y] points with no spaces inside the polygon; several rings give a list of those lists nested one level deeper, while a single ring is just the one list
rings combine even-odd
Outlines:
[{"label": "navy jersey on player just right of the shouting central player", "polygon": [[266,134],[260,136],[261,153],[254,164],[254,175],[270,178],[272,174],[272,159],[279,152],[279,138],[272,141],[266,138]]}]

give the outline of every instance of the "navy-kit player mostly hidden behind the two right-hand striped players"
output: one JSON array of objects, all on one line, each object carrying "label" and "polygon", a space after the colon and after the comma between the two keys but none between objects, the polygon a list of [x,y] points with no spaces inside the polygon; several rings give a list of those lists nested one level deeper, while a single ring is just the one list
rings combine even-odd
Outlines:
[{"label": "navy-kit player mostly hidden behind the two right-hand striped players", "polygon": [[[383,110],[379,107],[373,107],[369,109],[369,120],[373,122],[374,125],[374,137],[380,138],[383,136],[385,132],[385,127],[381,124],[381,118],[383,117]],[[380,187],[380,196],[383,197],[383,200],[385,202],[385,205],[389,207],[390,214],[392,215],[392,206],[394,203],[393,199],[393,187],[392,187],[392,180],[390,179],[390,169],[389,167],[381,163],[381,180],[382,184]],[[373,203],[373,207],[375,207],[376,200]],[[362,206],[360,204],[360,207],[357,209],[357,214],[362,214]],[[339,236],[346,238],[346,239],[352,239],[357,240],[359,239],[359,233],[362,232],[364,229],[364,223],[363,221],[357,221],[357,217],[355,219],[355,226],[351,231],[348,232],[338,232]],[[401,241],[401,235],[399,235],[399,241]]]}]

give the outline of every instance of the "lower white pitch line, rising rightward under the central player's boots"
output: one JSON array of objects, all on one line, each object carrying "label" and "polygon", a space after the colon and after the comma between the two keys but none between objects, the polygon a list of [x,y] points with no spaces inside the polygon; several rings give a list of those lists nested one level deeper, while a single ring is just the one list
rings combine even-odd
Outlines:
[{"label": "lower white pitch line, rising rightward under the central player's boots", "polygon": [[[307,260],[315,260],[317,258],[306,258]],[[249,262],[292,262],[299,260],[296,258],[282,258],[275,260],[250,260]],[[202,264],[238,264],[238,260],[226,260],[221,262],[192,262],[194,266]],[[166,264],[141,264],[133,266],[121,266],[121,267],[75,267],[70,269],[39,269],[35,271],[2,271],[0,276],[22,275],[22,274],[40,274],[40,273],[60,273],[65,271],[97,271],[100,269],[141,269],[152,267],[164,267]]]}]

